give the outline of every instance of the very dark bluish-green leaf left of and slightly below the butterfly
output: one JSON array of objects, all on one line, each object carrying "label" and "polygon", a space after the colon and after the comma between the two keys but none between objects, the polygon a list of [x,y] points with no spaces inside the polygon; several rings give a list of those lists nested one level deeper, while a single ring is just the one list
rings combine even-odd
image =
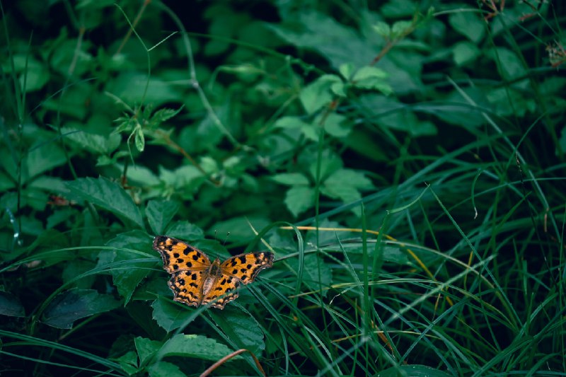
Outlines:
[{"label": "very dark bluish-green leaf left of and slightly below the butterfly", "polygon": [[60,329],[70,329],[81,318],[112,311],[120,301],[94,289],[71,289],[59,294],[45,309],[42,322]]}]

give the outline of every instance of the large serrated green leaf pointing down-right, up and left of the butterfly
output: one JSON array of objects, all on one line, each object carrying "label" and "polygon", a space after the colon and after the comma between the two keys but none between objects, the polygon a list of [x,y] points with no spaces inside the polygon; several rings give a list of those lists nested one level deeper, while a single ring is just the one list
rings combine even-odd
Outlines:
[{"label": "large serrated green leaf pointing down-right, up and left of the butterfly", "polygon": [[65,182],[74,197],[86,200],[106,209],[122,219],[129,219],[139,228],[144,228],[141,213],[132,197],[116,182],[99,178],[79,178]]}]

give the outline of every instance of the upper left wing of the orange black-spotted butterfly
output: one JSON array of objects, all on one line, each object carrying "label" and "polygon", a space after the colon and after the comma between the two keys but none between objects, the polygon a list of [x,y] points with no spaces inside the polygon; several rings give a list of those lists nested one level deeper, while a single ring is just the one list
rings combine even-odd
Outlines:
[{"label": "upper left wing of the orange black-spotted butterfly", "polygon": [[161,254],[163,268],[170,274],[178,271],[202,271],[210,267],[206,254],[176,238],[156,236],[154,250]]}]

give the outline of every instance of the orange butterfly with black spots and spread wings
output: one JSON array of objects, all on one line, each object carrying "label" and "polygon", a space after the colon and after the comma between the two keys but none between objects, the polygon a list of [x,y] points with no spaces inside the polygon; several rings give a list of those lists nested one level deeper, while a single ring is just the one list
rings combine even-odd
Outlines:
[{"label": "orange butterfly with black spots and spread wings", "polygon": [[161,254],[163,268],[171,274],[168,282],[173,300],[188,306],[210,303],[224,309],[238,297],[240,284],[253,282],[262,269],[272,267],[273,253],[256,252],[210,262],[201,250],[175,238],[156,236],[154,250]]}]

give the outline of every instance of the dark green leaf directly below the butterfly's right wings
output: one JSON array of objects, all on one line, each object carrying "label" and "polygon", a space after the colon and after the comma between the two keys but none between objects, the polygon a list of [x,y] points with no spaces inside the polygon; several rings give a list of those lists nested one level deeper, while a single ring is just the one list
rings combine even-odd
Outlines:
[{"label": "dark green leaf directly below the butterfly's right wings", "polygon": [[236,344],[236,348],[249,349],[255,356],[259,356],[265,349],[263,332],[250,313],[234,306],[226,306],[221,313],[210,311],[209,315],[216,326]]}]

